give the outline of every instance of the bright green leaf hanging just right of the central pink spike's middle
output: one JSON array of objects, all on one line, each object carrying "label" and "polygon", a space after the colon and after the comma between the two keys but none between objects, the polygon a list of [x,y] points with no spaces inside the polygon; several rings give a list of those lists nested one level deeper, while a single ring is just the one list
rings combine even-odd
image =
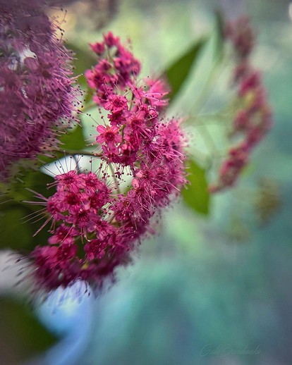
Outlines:
[{"label": "bright green leaf hanging just right of the central pink spike's middle", "polygon": [[183,201],[200,214],[209,214],[209,192],[205,170],[193,160],[187,163],[190,185],[183,190]]}]

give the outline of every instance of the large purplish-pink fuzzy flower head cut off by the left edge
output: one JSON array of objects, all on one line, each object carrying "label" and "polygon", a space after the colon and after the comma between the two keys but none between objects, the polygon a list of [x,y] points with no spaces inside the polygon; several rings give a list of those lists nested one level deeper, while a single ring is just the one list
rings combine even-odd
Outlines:
[{"label": "large purplish-pink fuzzy flower head cut off by the left edge", "polygon": [[70,56],[37,0],[0,0],[0,180],[57,145],[72,118]]}]

